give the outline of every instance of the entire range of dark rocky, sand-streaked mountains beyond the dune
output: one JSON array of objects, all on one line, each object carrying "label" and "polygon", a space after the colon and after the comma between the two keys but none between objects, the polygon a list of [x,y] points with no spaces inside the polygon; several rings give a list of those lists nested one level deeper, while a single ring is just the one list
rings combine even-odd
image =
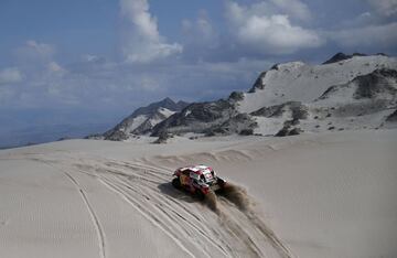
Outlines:
[{"label": "entire range of dark rocky, sand-streaked mountains beyond the dune", "polygon": [[396,69],[397,60],[384,54],[337,53],[321,65],[277,64],[261,73],[247,93],[193,104],[165,98],[89,138],[290,136],[397,127]]}]

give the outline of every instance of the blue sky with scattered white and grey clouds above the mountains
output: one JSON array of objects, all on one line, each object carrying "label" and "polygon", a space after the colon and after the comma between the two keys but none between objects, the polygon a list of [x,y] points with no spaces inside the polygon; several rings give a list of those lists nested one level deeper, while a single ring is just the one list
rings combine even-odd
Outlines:
[{"label": "blue sky with scattered white and grey clouds above the mountains", "polygon": [[397,53],[397,0],[0,0],[0,133],[227,97],[275,63]]}]

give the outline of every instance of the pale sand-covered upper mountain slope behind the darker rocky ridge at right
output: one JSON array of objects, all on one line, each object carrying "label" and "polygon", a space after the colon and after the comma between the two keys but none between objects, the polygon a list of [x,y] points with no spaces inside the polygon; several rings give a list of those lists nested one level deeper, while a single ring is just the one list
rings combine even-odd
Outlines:
[{"label": "pale sand-covered upper mountain slope behind the darker rocky ridge at right", "polygon": [[310,65],[290,62],[262,73],[254,87],[238,103],[240,112],[286,101],[311,103],[331,86],[346,84],[375,69],[397,69],[397,60],[384,55],[352,56],[336,63]]}]

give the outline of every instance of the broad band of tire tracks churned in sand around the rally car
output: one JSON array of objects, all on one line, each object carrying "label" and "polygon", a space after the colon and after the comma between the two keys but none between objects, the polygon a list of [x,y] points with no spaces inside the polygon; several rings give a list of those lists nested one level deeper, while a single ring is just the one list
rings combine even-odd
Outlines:
[{"label": "broad band of tire tracks churned in sand around the rally car", "polygon": [[[190,214],[189,212],[187,214],[180,214],[175,208],[179,209],[179,207],[182,207],[182,209],[185,209],[186,207],[184,207],[183,204],[181,204],[178,200],[167,197],[163,196],[163,194],[158,193],[158,185],[170,180],[170,174],[164,169],[142,163],[114,161],[108,159],[92,159],[90,161],[90,164],[88,164],[87,161],[81,161],[84,165],[79,164],[81,162],[72,162],[74,163],[73,170],[94,176],[104,184],[105,187],[127,201],[127,203],[133,206],[154,226],[171,237],[179,247],[182,247],[182,250],[186,251],[186,255],[195,256],[195,252],[190,251],[190,248],[184,245],[186,243],[184,243],[181,237],[175,234],[176,232],[180,232],[180,229],[169,227],[169,219],[175,219],[174,216],[179,216],[181,218],[178,224],[182,228],[187,229],[186,234],[194,234],[195,232],[195,234],[197,234],[196,236],[214,241],[214,236],[206,235],[206,233],[202,232],[204,228],[196,228],[192,225],[187,225],[187,222],[190,221],[186,216],[192,215],[195,217],[196,214]],[[69,176],[69,179],[73,181],[73,176]],[[78,186],[77,182],[74,182],[74,184]],[[239,186],[237,186],[237,189],[239,190]],[[81,194],[84,194],[84,192]],[[137,198],[136,195],[141,197]],[[242,206],[243,201],[250,198],[246,192],[243,193],[242,197],[243,198],[239,201],[237,201],[235,196],[219,196],[219,198],[215,198],[215,209],[219,208],[222,211],[221,213],[219,211],[214,211],[214,207],[208,206],[210,209],[213,209],[218,215],[218,222],[223,227],[223,230],[215,229],[216,234],[213,232],[219,238],[218,240],[212,243],[217,244],[215,245],[217,246],[215,248],[219,248],[221,254],[228,254],[226,256],[229,257],[266,257],[268,252],[266,246],[267,244],[270,244],[270,248],[272,246],[280,257],[293,257],[288,247],[285,246],[285,244],[261,219],[259,214],[256,214],[256,212],[250,209],[248,207],[249,205]],[[158,205],[159,203],[163,203],[165,206]],[[176,204],[176,206],[172,208],[173,204]],[[168,207],[169,205],[170,208]],[[159,212],[161,212],[164,216],[158,216],[159,214],[155,209],[159,209]],[[174,212],[176,213],[174,214]],[[197,225],[200,225],[202,223],[202,218],[197,218]],[[173,221],[171,224],[175,224],[175,222]],[[254,229],[265,238],[257,235],[257,233],[251,235],[254,232],[249,232],[249,229],[246,229],[245,226],[249,226],[251,230]],[[218,246],[219,244],[221,246]],[[202,256],[210,257],[207,251],[201,251]]]}]

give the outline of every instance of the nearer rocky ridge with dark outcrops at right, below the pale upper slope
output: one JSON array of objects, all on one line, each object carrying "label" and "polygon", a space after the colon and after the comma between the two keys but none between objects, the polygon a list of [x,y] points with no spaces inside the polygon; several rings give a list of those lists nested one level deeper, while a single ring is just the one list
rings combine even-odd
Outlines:
[{"label": "nearer rocky ridge with dark outcrops at right, below the pale upper slope", "polygon": [[277,135],[287,131],[288,135],[290,130],[318,132],[379,128],[396,109],[397,72],[382,68],[346,84],[331,86],[313,101],[288,101],[264,107],[250,115],[259,123],[257,132]]}]

